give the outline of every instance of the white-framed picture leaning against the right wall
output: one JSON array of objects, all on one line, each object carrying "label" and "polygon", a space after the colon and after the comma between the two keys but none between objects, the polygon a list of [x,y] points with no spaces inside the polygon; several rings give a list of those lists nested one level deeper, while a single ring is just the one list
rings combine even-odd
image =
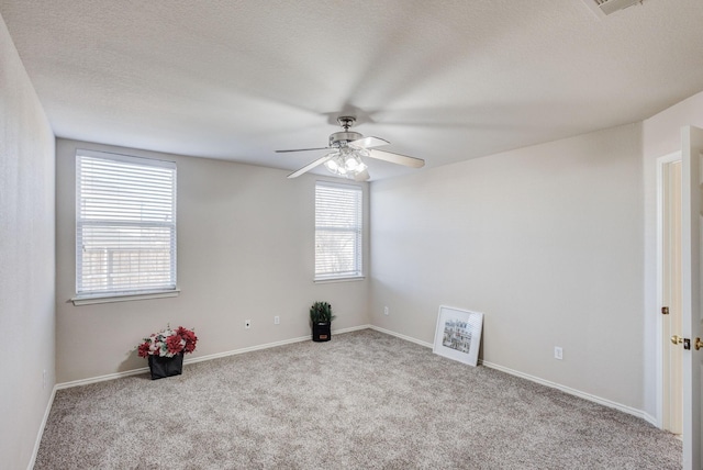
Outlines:
[{"label": "white-framed picture leaning against the right wall", "polygon": [[432,351],[476,367],[482,331],[482,313],[440,305]]}]

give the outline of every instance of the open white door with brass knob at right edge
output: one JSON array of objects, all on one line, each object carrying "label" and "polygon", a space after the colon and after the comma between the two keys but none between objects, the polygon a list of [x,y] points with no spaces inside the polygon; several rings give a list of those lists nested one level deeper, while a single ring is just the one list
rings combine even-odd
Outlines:
[{"label": "open white door with brass knob at right edge", "polygon": [[681,335],[683,337],[683,468],[703,469],[701,449],[701,243],[703,224],[703,130],[681,131]]}]

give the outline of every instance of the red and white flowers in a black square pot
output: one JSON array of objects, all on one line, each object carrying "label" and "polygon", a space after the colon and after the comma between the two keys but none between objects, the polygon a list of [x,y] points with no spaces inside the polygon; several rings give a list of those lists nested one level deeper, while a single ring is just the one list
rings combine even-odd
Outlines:
[{"label": "red and white flowers in a black square pot", "polygon": [[192,329],[167,326],[158,333],[144,338],[137,346],[140,357],[149,359],[152,380],[180,376],[183,370],[183,355],[196,350],[198,336]]}]

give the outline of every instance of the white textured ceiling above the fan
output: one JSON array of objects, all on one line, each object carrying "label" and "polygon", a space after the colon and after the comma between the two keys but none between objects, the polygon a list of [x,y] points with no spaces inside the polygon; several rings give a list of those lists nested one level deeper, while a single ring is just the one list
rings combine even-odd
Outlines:
[{"label": "white textured ceiling above the fan", "polygon": [[[588,0],[592,1],[592,0]],[[703,90],[703,1],[0,0],[59,137],[297,169],[355,131],[427,167]],[[369,163],[372,179],[423,171]]]}]

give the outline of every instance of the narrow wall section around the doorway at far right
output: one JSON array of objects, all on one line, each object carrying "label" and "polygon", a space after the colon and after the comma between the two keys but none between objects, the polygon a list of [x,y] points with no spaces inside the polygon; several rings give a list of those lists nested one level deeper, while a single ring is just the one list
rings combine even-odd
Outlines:
[{"label": "narrow wall section around the doorway at far right", "polygon": [[657,393],[657,158],[681,149],[681,127],[703,127],[703,92],[674,104],[643,123],[643,164],[645,169],[645,406],[659,415]]}]

